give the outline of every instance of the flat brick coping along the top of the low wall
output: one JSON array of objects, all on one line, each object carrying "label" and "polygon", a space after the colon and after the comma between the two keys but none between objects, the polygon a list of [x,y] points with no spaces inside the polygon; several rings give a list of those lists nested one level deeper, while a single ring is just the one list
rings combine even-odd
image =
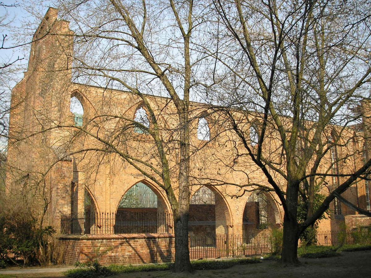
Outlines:
[{"label": "flat brick coping along the top of the low wall", "polygon": [[174,234],[107,234],[107,235],[59,235],[58,239],[95,240],[95,239],[140,239],[140,238],[174,238]]}]

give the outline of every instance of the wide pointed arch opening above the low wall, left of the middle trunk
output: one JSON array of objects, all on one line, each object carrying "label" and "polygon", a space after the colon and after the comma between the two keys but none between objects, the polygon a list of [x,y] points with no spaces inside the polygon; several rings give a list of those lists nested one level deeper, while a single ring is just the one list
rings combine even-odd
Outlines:
[{"label": "wide pointed arch opening above the low wall, left of the middle trunk", "polygon": [[132,186],[119,202],[115,218],[115,234],[171,232],[171,217],[164,202],[142,182]]}]

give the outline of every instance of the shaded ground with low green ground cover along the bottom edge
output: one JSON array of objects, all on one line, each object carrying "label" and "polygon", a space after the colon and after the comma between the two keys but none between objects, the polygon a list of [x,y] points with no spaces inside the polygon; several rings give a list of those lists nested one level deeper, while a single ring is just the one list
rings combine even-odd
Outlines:
[{"label": "shaded ground with low green ground cover along the bottom edge", "polygon": [[[203,261],[196,261],[196,270],[193,274],[174,274],[169,270],[165,271],[148,271],[148,272],[131,272],[131,273],[120,273],[112,278],[167,278],[167,277],[179,277],[179,278],[190,278],[190,277],[220,277],[220,278],[237,278],[237,277],[254,277],[254,278],[266,278],[266,277],[282,277],[282,278],[293,278],[293,277],[316,277],[316,278],[339,278],[339,277],[371,277],[371,250],[366,251],[355,251],[355,252],[341,252],[337,253],[335,257],[328,257],[324,254],[331,254],[327,252],[328,249],[332,252],[331,248],[323,248],[322,246],[310,247],[310,252],[305,253],[301,250],[302,254],[319,254],[321,258],[311,258],[312,255],[300,258],[301,265],[296,267],[282,267],[278,261],[275,260],[263,260],[258,263],[256,261],[246,260],[218,260],[213,261],[213,267],[220,269],[203,269],[203,266],[210,267],[210,263]],[[352,251],[354,246],[347,248],[343,247],[343,251]],[[362,249],[358,247],[357,249]],[[237,265],[236,265],[237,264]],[[234,265],[230,268],[230,265]],[[120,268],[121,266],[115,266]],[[133,266],[135,268],[137,266]],[[141,267],[141,266],[138,266]],[[143,267],[150,270],[151,265],[144,265]],[[27,271],[23,269],[23,271]],[[40,268],[42,271],[42,268]],[[64,277],[62,272],[40,272],[40,273],[19,273],[19,274],[6,274],[1,275],[1,278],[10,277]],[[76,277],[76,276],[75,276]],[[88,273],[81,277],[90,277]]]}]

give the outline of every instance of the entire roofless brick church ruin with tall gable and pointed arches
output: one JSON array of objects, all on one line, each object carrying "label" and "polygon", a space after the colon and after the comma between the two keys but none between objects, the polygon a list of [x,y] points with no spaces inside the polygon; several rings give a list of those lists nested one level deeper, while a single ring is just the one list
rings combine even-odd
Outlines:
[{"label": "entire roofless brick church ruin with tall gable and pointed arches", "polygon": [[[45,14],[33,37],[28,69],[12,92],[8,191],[32,188],[35,198],[41,200],[40,208],[47,203],[46,222],[60,231],[59,243],[68,264],[88,261],[97,248],[106,251],[102,257],[105,264],[170,261],[174,255],[174,235],[165,192],[134,166],[111,154],[109,148],[100,151],[102,146],[78,129],[89,126],[90,132],[97,132],[101,120],[97,116],[105,115],[102,123],[107,131],[121,130],[110,136],[117,142],[125,142],[130,153],[152,165],[158,162],[151,156],[153,145],[149,136],[136,126],[120,129],[125,126],[125,118],[150,127],[146,107],[131,93],[71,81],[73,32],[69,22],[57,16],[58,10],[53,8]],[[148,96],[148,99],[161,111],[161,123],[174,126],[177,117],[173,104],[165,97]],[[365,114],[370,115],[370,105],[362,105]],[[199,103],[191,106],[194,111],[191,144],[199,150],[191,159],[191,174],[198,182],[191,188],[190,236],[209,238],[206,245],[217,249],[218,244],[226,244],[211,240],[218,236],[264,234],[272,227],[282,226],[283,210],[273,193],[243,194],[237,186],[216,186],[212,182],[215,178],[225,183],[245,184],[244,171],[232,171],[232,165],[237,170],[244,167],[249,179],[268,185],[253,163],[234,155],[233,150],[238,146],[232,133],[220,132],[223,125],[212,113],[207,113],[208,108]],[[109,120],[110,115],[120,115],[121,119]],[[365,123],[368,121],[366,117]],[[56,125],[60,127],[54,128]],[[329,136],[329,140],[342,136],[341,146],[334,147],[327,159],[334,163],[331,167],[322,165],[333,173],[356,169],[365,159],[353,155],[337,162],[339,153],[346,153],[347,148],[362,149],[365,144],[364,131],[359,127],[344,129],[341,135],[339,130],[332,127]],[[347,142],[354,134],[359,141]],[[256,144],[255,136],[252,129],[252,147]],[[275,143],[272,141],[272,146]],[[279,148],[275,146],[275,149]],[[171,165],[174,172],[177,172],[176,160],[174,150]],[[326,179],[333,188],[341,178]],[[207,182],[200,182],[203,180]],[[322,191],[326,193],[326,188]],[[239,198],[232,198],[236,196]],[[367,181],[352,185],[344,197],[370,210]],[[319,231],[338,230],[344,223],[355,227],[362,221],[365,224],[370,221],[336,199],[328,216],[320,222]]]}]

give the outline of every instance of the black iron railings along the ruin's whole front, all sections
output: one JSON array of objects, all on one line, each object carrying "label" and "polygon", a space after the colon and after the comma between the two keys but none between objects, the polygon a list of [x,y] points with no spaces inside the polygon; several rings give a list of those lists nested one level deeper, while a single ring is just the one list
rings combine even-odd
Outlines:
[{"label": "black iron railings along the ruin's whole front, all sections", "polygon": [[[171,214],[129,211],[120,214],[63,215],[60,232],[61,234],[145,234],[173,233],[174,229]],[[371,232],[368,229],[318,232],[313,243],[325,246],[371,244]],[[304,242],[301,241],[298,243],[299,246],[303,244]],[[279,239],[270,234],[191,236],[189,238],[191,259],[274,253],[281,245]]]}]

